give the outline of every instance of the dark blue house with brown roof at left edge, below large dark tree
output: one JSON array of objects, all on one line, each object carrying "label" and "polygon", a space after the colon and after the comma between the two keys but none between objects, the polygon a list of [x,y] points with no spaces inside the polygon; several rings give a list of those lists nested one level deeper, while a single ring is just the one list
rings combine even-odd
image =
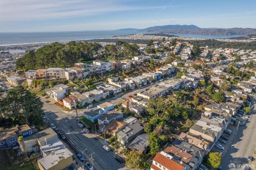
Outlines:
[{"label": "dark blue house with brown roof at left edge, below large dark tree", "polygon": [[18,145],[18,136],[31,135],[32,129],[28,125],[17,125],[0,133],[0,149],[13,148]]}]

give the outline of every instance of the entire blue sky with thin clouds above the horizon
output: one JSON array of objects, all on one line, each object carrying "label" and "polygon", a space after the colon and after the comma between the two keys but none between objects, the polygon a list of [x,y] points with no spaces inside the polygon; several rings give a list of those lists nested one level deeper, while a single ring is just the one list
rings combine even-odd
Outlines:
[{"label": "entire blue sky with thin clouds above the horizon", "polygon": [[255,0],[0,0],[0,32],[256,28]]}]

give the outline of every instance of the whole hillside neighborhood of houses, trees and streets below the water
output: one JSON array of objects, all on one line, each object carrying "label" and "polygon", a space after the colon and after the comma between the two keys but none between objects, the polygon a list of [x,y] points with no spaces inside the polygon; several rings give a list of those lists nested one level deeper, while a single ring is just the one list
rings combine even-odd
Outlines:
[{"label": "whole hillside neighborhood of houses, trees and streets below the water", "polygon": [[1,167],[255,167],[255,50],[114,38],[0,52]]}]

